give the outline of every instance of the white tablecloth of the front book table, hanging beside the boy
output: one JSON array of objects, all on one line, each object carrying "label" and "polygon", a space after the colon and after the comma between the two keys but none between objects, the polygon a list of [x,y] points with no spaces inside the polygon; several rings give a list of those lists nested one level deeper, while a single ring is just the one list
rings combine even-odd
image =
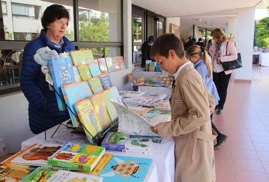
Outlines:
[{"label": "white tablecloth of the front book table, hanging beside the boy", "polygon": [[[66,121],[64,122],[64,124]],[[57,126],[54,126],[47,130],[47,140],[50,139]],[[72,131],[70,128],[66,128],[64,125],[60,125],[54,137],[57,138],[64,134],[69,134]],[[32,138],[25,140],[21,143],[21,150],[31,146],[35,143],[44,143],[45,132],[33,136]],[[85,143],[83,141],[79,141]],[[87,143],[89,144],[89,143]],[[174,181],[175,175],[175,157],[174,157],[175,143],[172,138],[164,138],[162,144],[153,144],[150,151],[147,154],[126,154],[119,151],[106,150],[106,153],[121,156],[133,156],[141,158],[151,158],[153,163],[151,164],[149,171],[144,181]]]}]

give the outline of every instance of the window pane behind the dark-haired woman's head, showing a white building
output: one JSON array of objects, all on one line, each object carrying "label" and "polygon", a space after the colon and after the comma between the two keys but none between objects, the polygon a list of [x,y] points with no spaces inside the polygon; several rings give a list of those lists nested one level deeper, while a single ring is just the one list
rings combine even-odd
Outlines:
[{"label": "window pane behind the dark-haired woman's head, showing a white building", "polygon": [[[1,1],[1,0],[0,0]],[[62,1],[61,1],[62,2]],[[25,4],[28,3],[28,4]],[[0,40],[33,40],[43,29],[41,17],[45,9],[53,5],[46,1],[16,1],[16,3],[6,3],[1,1],[4,24],[4,35],[0,35]],[[66,0],[61,4],[70,12],[70,21],[65,35],[70,40],[74,40],[74,11],[73,1]],[[11,11],[7,11],[11,10]]]}]

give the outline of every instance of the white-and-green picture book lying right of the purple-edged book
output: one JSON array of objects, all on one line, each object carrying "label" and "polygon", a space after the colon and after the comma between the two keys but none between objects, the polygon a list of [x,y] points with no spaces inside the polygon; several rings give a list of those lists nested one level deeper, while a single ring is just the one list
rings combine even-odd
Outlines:
[{"label": "white-and-green picture book lying right of the purple-edged book", "polygon": [[132,154],[147,154],[151,146],[152,139],[130,138],[122,152]]}]

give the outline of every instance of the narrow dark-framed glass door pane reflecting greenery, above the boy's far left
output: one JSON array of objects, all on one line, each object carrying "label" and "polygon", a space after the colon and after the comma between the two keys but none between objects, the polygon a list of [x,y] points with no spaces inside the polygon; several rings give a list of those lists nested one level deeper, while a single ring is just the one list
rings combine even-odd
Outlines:
[{"label": "narrow dark-framed glass door pane reflecting greenery, above the boy's far left", "polygon": [[142,15],[132,14],[132,38],[134,42],[142,42]]}]

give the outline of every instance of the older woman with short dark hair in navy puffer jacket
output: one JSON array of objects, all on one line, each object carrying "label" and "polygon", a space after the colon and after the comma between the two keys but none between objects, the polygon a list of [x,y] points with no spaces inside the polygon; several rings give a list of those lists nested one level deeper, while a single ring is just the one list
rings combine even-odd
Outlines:
[{"label": "older woman with short dark hair in navy puffer jacket", "polygon": [[64,36],[68,21],[69,12],[63,6],[47,7],[41,19],[44,29],[24,48],[20,86],[29,102],[29,125],[35,134],[69,119],[66,111],[59,111],[55,92],[49,89],[41,65],[33,59],[36,51],[46,46],[58,54],[75,50],[73,43]]}]

